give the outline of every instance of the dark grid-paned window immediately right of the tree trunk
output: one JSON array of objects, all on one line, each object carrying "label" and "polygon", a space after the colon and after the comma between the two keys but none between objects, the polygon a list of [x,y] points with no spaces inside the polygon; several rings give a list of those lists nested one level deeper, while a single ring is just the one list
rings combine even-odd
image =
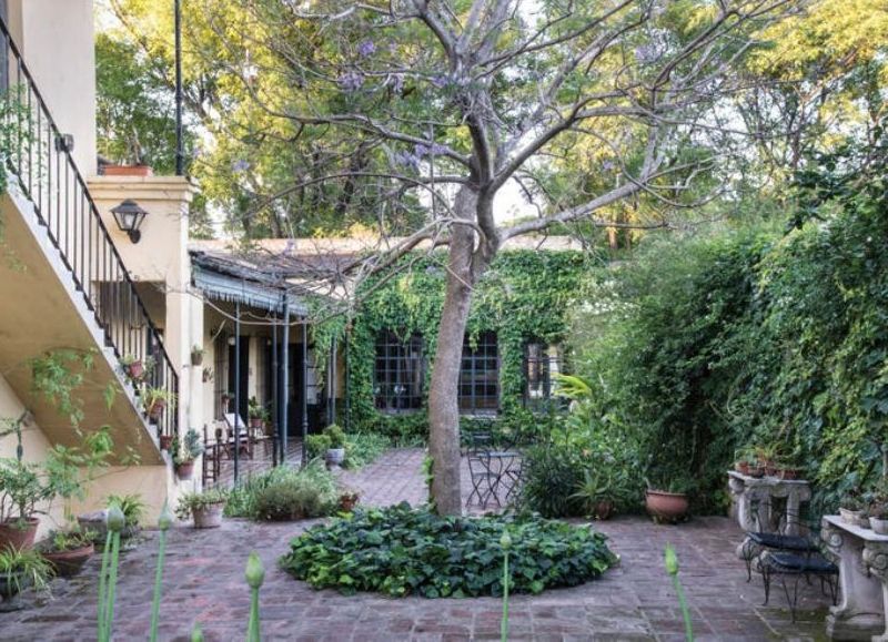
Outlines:
[{"label": "dark grid-paned window immediately right of the tree trunk", "polygon": [[460,411],[496,412],[500,408],[500,350],[496,333],[486,332],[472,346],[463,340],[460,368]]}]

